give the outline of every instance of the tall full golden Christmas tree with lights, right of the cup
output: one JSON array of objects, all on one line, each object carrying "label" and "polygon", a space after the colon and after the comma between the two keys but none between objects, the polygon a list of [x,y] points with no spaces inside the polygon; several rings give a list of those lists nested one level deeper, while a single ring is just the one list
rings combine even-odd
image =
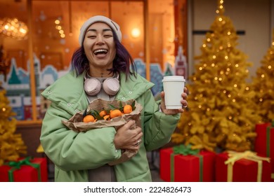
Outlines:
[{"label": "tall full golden Christmas tree with lights, right of the cup", "polygon": [[246,83],[247,55],[236,48],[237,34],[218,1],[216,18],[195,57],[188,82],[188,111],[178,123],[174,143],[209,151],[246,151],[253,147],[254,125],[260,120],[252,102],[255,92]]}]

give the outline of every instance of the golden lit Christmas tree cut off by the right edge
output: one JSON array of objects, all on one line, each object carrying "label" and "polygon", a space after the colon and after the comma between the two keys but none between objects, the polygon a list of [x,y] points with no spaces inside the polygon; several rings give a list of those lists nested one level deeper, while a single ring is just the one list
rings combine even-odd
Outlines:
[{"label": "golden lit Christmas tree cut off by the right edge", "polygon": [[274,29],[272,44],[261,61],[253,78],[254,102],[259,106],[258,113],[263,123],[274,120]]}]

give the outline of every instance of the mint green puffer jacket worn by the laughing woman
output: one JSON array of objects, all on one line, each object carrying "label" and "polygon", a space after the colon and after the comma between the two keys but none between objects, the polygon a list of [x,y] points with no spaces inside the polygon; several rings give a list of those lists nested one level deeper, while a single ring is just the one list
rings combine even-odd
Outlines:
[{"label": "mint green puffer jacket worn by the laughing woman", "polygon": [[[40,139],[46,155],[56,165],[55,181],[88,181],[89,169],[121,157],[121,151],[117,151],[113,143],[116,133],[114,127],[77,133],[67,130],[61,123],[61,120],[70,119],[89,105],[83,83],[84,74],[76,77],[74,72],[70,72],[41,93],[52,102],[42,123]],[[115,165],[117,181],[151,181],[146,152],[169,142],[180,114],[169,116],[159,112],[159,103],[155,102],[150,91],[153,84],[140,75],[126,81],[122,73],[120,84],[115,99],[136,99],[143,106],[143,139],[136,156]]]}]

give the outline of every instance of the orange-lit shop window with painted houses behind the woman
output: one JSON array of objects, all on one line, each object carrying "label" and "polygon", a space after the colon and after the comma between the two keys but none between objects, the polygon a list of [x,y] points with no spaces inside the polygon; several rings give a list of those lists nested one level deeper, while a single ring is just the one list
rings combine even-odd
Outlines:
[{"label": "orange-lit shop window with painted houses behind the woman", "polygon": [[1,1],[5,9],[0,13],[0,27],[4,18],[18,18],[31,26],[25,38],[0,36],[9,60],[0,81],[9,99],[15,100],[11,106],[16,118],[33,123],[44,117],[50,102],[40,96],[41,91],[71,70],[79,29],[92,15],[105,15],[120,25],[122,43],[138,72],[156,83],[152,90],[156,95],[162,89],[164,71],[174,66],[178,45],[185,44],[181,20],[185,1]]}]

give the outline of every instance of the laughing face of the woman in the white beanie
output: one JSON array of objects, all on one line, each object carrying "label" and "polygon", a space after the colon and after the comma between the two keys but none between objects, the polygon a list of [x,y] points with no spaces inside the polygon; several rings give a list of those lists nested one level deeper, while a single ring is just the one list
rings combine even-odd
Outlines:
[{"label": "laughing face of the woman in the white beanie", "polygon": [[84,36],[84,51],[91,69],[110,69],[116,48],[112,29],[104,22],[93,23]]}]

